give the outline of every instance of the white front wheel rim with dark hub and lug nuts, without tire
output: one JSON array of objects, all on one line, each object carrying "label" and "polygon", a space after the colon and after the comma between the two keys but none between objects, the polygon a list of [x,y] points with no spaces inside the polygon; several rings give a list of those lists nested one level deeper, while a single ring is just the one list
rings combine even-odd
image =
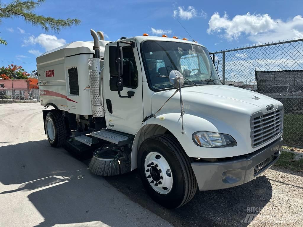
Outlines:
[{"label": "white front wheel rim with dark hub and lug nuts, without tire", "polygon": [[171,168],[160,153],[151,152],[145,158],[144,171],[151,187],[160,194],[167,194],[172,189]]}]

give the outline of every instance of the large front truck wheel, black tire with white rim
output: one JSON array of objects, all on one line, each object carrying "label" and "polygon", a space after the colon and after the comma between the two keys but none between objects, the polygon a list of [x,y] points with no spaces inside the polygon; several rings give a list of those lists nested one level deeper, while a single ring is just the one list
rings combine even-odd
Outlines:
[{"label": "large front truck wheel, black tire with white rim", "polygon": [[143,141],[138,152],[138,170],[149,196],[173,209],[189,202],[197,191],[192,159],[172,135],[161,134]]}]

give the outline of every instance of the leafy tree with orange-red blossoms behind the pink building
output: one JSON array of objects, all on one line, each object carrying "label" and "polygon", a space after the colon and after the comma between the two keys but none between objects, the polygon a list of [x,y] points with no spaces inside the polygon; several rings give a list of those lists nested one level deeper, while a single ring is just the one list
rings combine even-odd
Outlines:
[{"label": "leafy tree with orange-red blossoms behind the pink building", "polygon": [[22,66],[10,64],[8,67],[0,67],[0,78],[8,79],[28,79],[30,74]]}]

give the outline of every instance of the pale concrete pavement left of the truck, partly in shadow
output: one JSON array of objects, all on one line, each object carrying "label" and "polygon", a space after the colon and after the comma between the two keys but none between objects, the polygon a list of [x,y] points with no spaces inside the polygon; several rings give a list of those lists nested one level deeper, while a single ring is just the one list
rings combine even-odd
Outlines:
[{"label": "pale concrete pavement left of the truck, partly in shadow", "polygon": [[0,104],[0,226],[171,226],[48,144],[39,104]]}]

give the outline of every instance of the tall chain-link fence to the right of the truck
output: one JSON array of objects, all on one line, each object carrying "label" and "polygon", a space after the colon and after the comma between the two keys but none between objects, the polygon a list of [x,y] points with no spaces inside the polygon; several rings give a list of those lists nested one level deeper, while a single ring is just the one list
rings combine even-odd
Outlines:
[{"label": "tall chain-link fence to the right of the truck", "polygon": [[303,146],[303,39],[215,52],[225,85],[265,94],[284,105],[283,139]]}]

